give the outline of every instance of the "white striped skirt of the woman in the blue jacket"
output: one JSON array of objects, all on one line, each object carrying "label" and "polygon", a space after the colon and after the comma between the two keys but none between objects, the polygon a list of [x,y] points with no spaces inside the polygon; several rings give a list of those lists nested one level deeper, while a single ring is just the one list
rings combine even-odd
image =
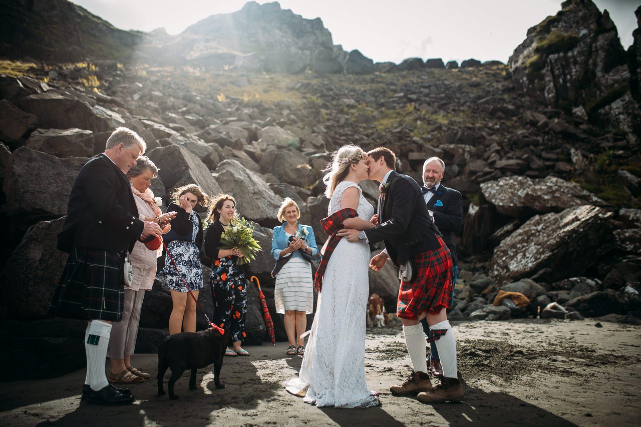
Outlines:
[{"label": "white striped skirt of the woman in the blue jacket", "polygon": [[311,314],[314,305],[312,265],[303,258],[292,258],[276,276],[274,289],[276,312],[298,310]]}]

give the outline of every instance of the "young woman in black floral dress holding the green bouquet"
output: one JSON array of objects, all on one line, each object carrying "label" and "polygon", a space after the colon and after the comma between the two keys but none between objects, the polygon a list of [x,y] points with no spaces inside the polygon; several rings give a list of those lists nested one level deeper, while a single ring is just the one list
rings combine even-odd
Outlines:
[{"label": "young woman in black floral dress holding the green bouquet", "polygon": [[240,346],[245,337],[245,314],[247,312],[247,289],[245,288],[244,268],[238,267],[239,258],[245,253],[233,247],[223,249],[221,237],[232,227],[236,215],[236,200],[229,194],[219,194],[213,199],[212,214],[207,219],[210,226],[205,233],[204,253],[213,259],[212,322],[221,328],[227,326],[233,349],[227,348],[226,356],[249,356]]}]

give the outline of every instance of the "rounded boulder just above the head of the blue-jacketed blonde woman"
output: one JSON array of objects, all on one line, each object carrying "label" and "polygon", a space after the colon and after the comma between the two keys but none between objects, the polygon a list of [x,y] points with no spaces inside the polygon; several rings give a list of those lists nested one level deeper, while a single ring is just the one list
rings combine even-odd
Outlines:
[{"label": "rounded boulder just above the head of the blue-jacketed blonde woman", "polygon": [[260,160],[260,170],[271,173],[280,181],[299,187],[307,187],[313,181],[312,167],[307,158],[296,150],[268,149]]}]

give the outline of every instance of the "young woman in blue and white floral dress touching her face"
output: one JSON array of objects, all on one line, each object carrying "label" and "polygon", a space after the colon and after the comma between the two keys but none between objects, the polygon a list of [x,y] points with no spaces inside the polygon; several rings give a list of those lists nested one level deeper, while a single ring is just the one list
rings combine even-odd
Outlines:
[{"label": "young woman in blue and white floral dress touching her face", "polygon": [[181,331],[181,326],[185,332],[196,332],[196,302],[189,296],[185,283],[194,297],[198,298],[198,292],[204,286],[200,262],[203,224],[194,208],[196,204],[207,207],[209,196],[198,185],[188,184],[176,188],[171,199],[172,203],[167,206],[167,210],[177,213],[171,222],[172,230],[165,235],[164,240],[180,274],[169,256],[165,256],[165,267],[158,272],[156,278],[166,281],[171,292],[169,334],[173,335]]}]

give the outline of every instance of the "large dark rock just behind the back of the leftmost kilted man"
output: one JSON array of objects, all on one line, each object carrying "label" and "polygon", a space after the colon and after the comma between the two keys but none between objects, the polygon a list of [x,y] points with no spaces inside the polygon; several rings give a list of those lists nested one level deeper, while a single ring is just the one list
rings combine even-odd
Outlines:
[{"label": "large dark rock just behind the back of the leftmost kilted man", "polygon": [[3,180],[9,215],[22,221],[65,215],[71,187],[88,160],[58,158],[27,147],[13,151]]}]

